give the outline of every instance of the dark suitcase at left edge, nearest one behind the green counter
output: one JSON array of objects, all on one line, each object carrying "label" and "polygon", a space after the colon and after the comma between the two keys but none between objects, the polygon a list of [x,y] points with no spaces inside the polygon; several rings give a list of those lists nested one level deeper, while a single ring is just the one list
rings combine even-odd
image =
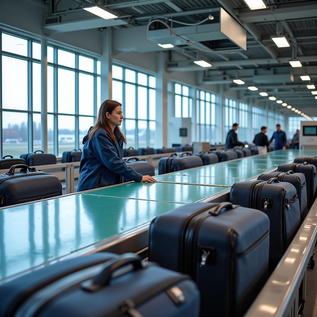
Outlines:
[{"label": "dark suitcase at left edge, nearest one behind the green counter", "polygon": [[56,176],[36,171],[34,167],[13,165],[8,172],[0,175],[0,207],[61,195],[60,180]]}]

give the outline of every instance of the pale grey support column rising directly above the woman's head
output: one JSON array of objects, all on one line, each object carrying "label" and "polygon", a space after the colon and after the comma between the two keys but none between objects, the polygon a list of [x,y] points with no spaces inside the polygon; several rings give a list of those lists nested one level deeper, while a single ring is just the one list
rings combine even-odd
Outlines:
[{"label": "pale grey support column rising directly above the woman's head", "polygon": [[101,102],[112,99],[112,28],[102,34],[102,55],[100,58]]}]

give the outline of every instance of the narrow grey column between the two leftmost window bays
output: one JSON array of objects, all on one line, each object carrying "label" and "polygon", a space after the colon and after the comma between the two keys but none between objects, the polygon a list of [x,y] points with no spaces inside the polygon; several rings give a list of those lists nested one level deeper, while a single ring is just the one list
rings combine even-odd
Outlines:
[{"label": "narrow grey column between the two leftmost window bays", "polygon": [[41,148],[47,149],[47,40],[41,40]]}]

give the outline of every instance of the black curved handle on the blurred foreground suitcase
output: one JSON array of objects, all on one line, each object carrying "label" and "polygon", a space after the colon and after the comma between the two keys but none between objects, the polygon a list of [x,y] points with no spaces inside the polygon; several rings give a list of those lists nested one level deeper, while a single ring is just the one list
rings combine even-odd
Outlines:
[{"label": "black curved handle on the blurred foreground suitcase", "polygon": [[114,271],[129,264],[133,265],[133,270],[143,268],[139,256],[134,253],[126,253],[108,261],[104,269],[93,280],[83,282],[81,287],[86,291],[96,292],[109,284]]}]

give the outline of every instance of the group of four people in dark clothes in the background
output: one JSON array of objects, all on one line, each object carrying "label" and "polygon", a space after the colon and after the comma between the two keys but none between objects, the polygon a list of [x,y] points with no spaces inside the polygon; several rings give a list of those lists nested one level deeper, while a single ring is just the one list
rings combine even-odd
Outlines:
[{"label": "group of four people in dark clothes in the background", "polygon": [[[238,141],[238,136],[236,134],[236,130],[238,129],[239,125],[237,123],[234,123],[232,125],[232,129],[227,134],[226,139],[226,148],[232,149],[235,146],[241,146],[244,145],[243,142]],[[268,131],[266,126],[261,127],[261,132],[256,134],[256,136],[253,139],[253,143],[260,147],[260,150],[262,148],[266,148],[269,146],[269,144],[275,140],[274,143],[274,150],[286,150],[286,133],[281,130],[281,125],[276,125],[276,131],[273,133],[270,140],[268,140],[267,135],[265,134]],[[296,130],[296,133],[292,140],[292,147],[293,149],[299,148],[299,130]]]}]

